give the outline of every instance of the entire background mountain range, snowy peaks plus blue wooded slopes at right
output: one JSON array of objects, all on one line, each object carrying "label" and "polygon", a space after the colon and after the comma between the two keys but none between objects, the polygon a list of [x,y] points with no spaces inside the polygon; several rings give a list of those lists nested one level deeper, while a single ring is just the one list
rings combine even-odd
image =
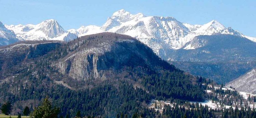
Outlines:
[{"label": "entire background mountain range, snowy peaks plus blue wooded slopes at right", "polygon": [[[36,25],[1,25],[0,32],[0,45],[22,40],[70,41],[102,32],[125,34],[146,44],[154,53],[175,66],[218,83],[232,81],[256,66],[256,38],[231,27],[226,28],[216,20],[203,25],[191,25],[174,17],[145,16],[142,13],[134,15],[119,10],[100,27],[81,26],[66,31],[56,20],[50,19]],[[11,35],[6,37],[5,34]],[[195,63],[200,63],[200,69],[193,68]]]}]

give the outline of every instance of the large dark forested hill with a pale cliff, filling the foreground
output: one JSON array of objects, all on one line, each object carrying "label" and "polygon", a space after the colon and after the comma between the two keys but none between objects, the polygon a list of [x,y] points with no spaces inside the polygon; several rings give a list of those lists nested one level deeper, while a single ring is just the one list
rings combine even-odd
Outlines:
[{"label": "large dark forested hill with a pale cliff, filling the foreground", "polygon": [[138,40],[116,33],[70,42],[19,43],[0,49],[0,103],[13,113],[48,95],[60,115],[114,117],[144,113],[152,99],[204,101],[208,84],[161,60]]}]

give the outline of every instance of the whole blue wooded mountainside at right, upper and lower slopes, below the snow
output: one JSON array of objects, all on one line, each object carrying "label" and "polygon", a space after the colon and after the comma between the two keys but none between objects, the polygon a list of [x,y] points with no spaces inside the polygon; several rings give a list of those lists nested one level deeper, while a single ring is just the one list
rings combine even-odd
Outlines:
[{"label": "whole blue wooded mountainside at right, upper and lower slopes, below the snow", "polygon": [[233,35],[216,34],[197,36],[193,42],[200,45],[196,49],[172,50],[166,58],[178,68],[194,75],[215,80],[218,83],[230,82],[256,66],[256,43]]}]

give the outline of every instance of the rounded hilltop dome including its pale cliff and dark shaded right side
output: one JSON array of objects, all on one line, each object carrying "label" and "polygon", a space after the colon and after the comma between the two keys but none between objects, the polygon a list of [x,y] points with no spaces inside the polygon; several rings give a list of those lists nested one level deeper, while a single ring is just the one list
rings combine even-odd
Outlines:
[{"label": "rounded hilltop dome including its pale cliff and dark shaded right side", "polygon": [[75,80],[104,80],[118,75],[125,67],[153,69],[155,64],[163,63],[149,47],[130,36],[101,33],[97,37],[89,35],[75,41],[70,42],[75,50],[60,59],[56,66],[60,73]]}]

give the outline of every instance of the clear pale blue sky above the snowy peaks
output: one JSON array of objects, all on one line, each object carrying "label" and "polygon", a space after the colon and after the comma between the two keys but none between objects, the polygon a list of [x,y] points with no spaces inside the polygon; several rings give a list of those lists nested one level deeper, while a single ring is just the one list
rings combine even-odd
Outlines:
[{"label": "clear pale blue sky above the snowy peaks", "polygon": [[102,26],[115,11],[172,16],[189,24],[215,19],[256,37],[256,0],[0,0],[3,24],[38,24],[55,19],[65,29]]}]

